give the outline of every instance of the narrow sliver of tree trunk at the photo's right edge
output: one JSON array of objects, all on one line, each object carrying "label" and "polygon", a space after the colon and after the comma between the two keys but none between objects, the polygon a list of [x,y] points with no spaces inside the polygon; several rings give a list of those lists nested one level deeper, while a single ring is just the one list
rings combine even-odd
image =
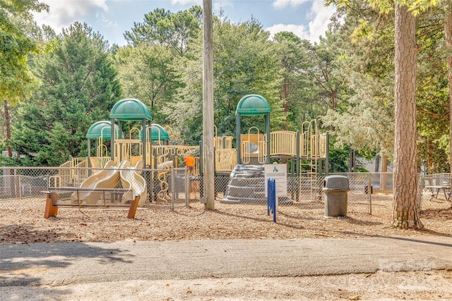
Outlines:
[{"label": "narrow sliver of tree trunk at the photo's right edge", "polygon": [[446,1],[444,11],[444,33],[446,35],[447,70],[448,70],[448,86],[449,86],[449,139],[450,139],[450,165],[452,175],[452,0]]}]

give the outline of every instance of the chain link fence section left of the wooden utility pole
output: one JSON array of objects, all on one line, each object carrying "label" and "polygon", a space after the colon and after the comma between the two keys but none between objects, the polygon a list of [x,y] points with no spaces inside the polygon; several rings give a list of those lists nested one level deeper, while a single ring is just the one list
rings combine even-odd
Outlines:
[{"label": "chain link fence section left of the wooden utility pole", "polygon": [[44,202],[47,192],[57,192],[58,203],[68,206],[112,207],[140,195],[140,207],[177,209],[199,203],[195,182],[199,183],[198,178],[189,175],[186,168],[3,167],[0,170],[0,209],[11,206],[11,202],[2,202],[11,199],[16,200],[15,207]]}]

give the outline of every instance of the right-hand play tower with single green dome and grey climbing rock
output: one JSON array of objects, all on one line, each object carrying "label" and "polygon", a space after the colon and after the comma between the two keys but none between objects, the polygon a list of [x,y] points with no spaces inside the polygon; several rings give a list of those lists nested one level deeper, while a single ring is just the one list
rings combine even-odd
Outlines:
[{"label": "right-hand play tower with single green dome and grey climbing rock", "polygon": [[[328,164],[328,136],[319,133],[315,120],[303,123],[301,134],[287,130],[270,132],[270,111],[266,99],[256,94],[246,95],[237,105],[237,166],[230,173],[222,202],[266,202],[263,195],[266,183],[260,164],[272,161],[286,161],[292,175],[299,176],[292,197],[298,199],[300,192],[309,192],[311,199],[319,198],[321,185],[316,183],[316,176]],[[263,133],[255,126],[242,133],[241,118],[246,116],[263,116]],[[279,202],[292,200],[282,198]]]}]

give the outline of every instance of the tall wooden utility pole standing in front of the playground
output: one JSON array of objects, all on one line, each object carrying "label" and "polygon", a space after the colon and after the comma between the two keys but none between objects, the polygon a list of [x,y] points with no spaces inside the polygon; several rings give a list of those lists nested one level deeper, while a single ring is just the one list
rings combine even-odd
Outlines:
[{"label": "tall wooden utility pole standing in front of the playground", "polygon": [[203,168],[206,209],[215,209],[212,0],[203,0]]}]

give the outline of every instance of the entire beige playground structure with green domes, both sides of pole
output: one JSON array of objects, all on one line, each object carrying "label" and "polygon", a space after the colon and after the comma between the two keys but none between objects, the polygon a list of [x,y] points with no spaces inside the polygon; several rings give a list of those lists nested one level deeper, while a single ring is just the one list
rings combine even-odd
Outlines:
[{"label": "entire beige playground structure with green domes, both sides of pole", "polygon": [[[237,170],[241,170],[242,175],[245,174],[244,177],[249,178],[247,166],[251,168],[251,173],[255,173],[252,170],[259,169],[258,166],[278,161],[287,164],[290,175],[305,178],[303,183],[297,185],[297,191],[309,191],[313,197],[319,188],[309,178],[327,172],[328,135],[319,132],[315,119],[303,123],[302,128],[296,132],[288,130],[270,132],[270,111],[268,102],[260,95],[246,95],[240,100],[236,110],[236,147],[233,146],[232,136],[219,137],[217,129],[214,129],[215,176],[234,178],[234,175],[240,174]],[[242,130],[241,118],[246,116],[263,116],[263,130],[258,126]],[[102,188],[107,186],[115,188],[121,185],[123,188],[131,188],[130,193],[141,195],[142,205],[145,199],[151,199],[145,197],[148,192],[150,195],[156,195],[158,199],[167,198],[165,191],[169,187],[167,183],[169,169],[172,166],[183,166],[184,156],[195,157],[194,170],[190,176],[202,178],[202,144],[201,147],[169,145],[166,130],[161,125],[152,123],[150,111],[138,99],[122,99],[117,102],[112,108],[110,118],[110,121],[98,121],[91,125],[86,135],[88,156],[71,158],[61,165],[59,175],[49,179],[49,186],[97,188],[100,185]],[[141,123],[141,128],[133,127],[128,133],[123,133],[123,125],[129,121],[134,121],[135,125],[137,122]],[[91,156],[92,140],[95,140],[95,156]],[[104,170],[94,169],[104,167]],[[236,171],[232,172],[233,170]],[[138,171],[149,172],[150,174],[144,178],[153,178],[160,183],[155,185],[149,180],[146,183]],[[115,175],[115,172],[118,175]],[[262,173],[259,174],[258,186],[263,187],[263,183],[260,183]],[[245,180],[241,185],[246,187],[249,183]],[[202,195],[202,188],[200,190]],[[226,188],[225,193],[231,190],[234,189]],[[258,190],[257,198],[261,199],[262,192]],[[94,202],[88,192],[81,195],[78,200]],[[126,199],[131,199],[131,196],[127,196]],[[229,199],[240,199],[240,196]],[[228,197],[225,197],[225,200],[227,201]]]}]

